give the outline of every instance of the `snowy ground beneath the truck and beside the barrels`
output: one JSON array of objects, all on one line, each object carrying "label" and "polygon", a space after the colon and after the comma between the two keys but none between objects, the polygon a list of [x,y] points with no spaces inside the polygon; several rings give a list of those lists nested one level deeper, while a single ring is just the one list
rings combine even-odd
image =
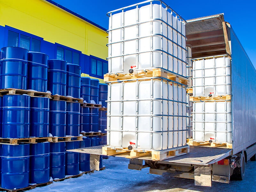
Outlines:
[{"label": "snowy ground beneath the truck and beside the barrels", "polygon": [[31,192],[255,192],[256,162],[246,164],[245,179],[231,181],[229,184],[212,182],[212,187],[194,185],[194,180],[149,174],[149,168],[141,171],[129,170],[129,160],[121,157],[110,157],[103,160],[106,169],[54,182],[45,187],[35,188]]}]

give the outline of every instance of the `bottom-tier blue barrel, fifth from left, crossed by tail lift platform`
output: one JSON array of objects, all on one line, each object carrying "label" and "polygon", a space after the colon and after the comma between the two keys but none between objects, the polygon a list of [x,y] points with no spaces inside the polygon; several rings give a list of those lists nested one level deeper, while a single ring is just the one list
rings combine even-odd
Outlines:
[{"label": "bottom-tier blue barrel, fifth from left, crossed by tail lift platform", "polygon": [[[80,148],[91,147],[90,139],[83,139],[80,141]],[[79,170],[83,172],[90,171],[90,154],[80,153]]]}]

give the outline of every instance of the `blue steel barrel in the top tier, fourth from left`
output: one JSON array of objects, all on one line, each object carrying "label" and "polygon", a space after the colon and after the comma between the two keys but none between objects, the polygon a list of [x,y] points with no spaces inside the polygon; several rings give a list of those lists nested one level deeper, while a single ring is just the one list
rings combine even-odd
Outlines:
[{"label": "blue steel barrel in the top tier, fourth from left", "polygon": [[67,95],[80,98],[81,67],[76,64],[67,65]]}]

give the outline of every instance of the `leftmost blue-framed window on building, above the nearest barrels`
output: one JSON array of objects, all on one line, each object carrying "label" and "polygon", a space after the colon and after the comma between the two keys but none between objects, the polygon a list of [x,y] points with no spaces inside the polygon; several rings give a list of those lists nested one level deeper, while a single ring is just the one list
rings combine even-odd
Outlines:
[{"label": "leftmost blue-framed window on building, above the nearest barrels", "polygon": [[27,35],[25,32],[23,34],[22,31],[15,31],[8,30],[7,46],[22,47],[29,51],[40,52],[41,40],[33,38],[33,35],[29,36],[29,34]]}]

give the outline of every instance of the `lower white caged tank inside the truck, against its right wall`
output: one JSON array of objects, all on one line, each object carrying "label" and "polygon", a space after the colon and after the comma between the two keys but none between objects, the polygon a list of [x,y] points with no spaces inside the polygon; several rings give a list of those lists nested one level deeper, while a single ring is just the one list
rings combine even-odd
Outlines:
[{"label": "lower white caged tank inside the truck, against its right wall", "polygon": [[232,143],[231,102],[194,102],[193,139]]}]

